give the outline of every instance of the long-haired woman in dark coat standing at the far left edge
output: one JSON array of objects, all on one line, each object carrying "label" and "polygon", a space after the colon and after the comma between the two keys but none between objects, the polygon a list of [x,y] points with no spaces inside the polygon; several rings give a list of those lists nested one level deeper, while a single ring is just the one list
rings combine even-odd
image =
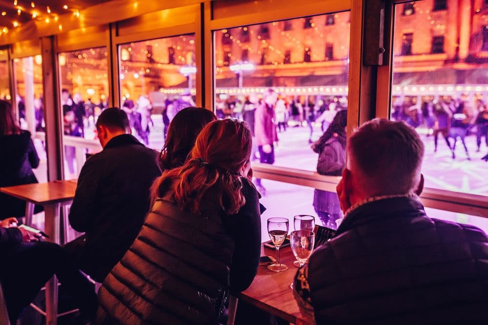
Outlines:
[{"label": "long-haired woman in dark coat standing at the far left edge", "polygon": [[[12,106],[0,100],[0,187],[37,183],[32,172],[39,166],[39,156],[28,131],[20,130],[15,122]],[[0,193],[0,220],[23,217],[25,201]],[[37,206],[35,213],[42,211]]]}]

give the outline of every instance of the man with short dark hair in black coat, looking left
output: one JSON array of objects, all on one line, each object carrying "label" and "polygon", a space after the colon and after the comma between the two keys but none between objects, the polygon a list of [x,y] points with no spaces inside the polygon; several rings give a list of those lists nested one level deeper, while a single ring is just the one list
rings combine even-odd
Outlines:
[{"label": "man with short dark hair in black coat, looking left", "polygon": [[161,170],[158,154],[130,134],[124,111],[104,110],[96,126],[103,150],[83,165],[69,213],[73,229],[85,234],[65,249],[102,282],[141,229],[149,189]]}]

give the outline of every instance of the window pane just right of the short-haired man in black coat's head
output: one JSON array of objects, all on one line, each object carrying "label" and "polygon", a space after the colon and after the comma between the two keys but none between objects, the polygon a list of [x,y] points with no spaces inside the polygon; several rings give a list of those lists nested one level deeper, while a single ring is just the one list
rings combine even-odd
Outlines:
[{"label": "window pane just right of the short-haired man in black coat's head", "polygon": [[120,45],[119,67],[132,134],[160,150],[173,116],[195,106],[195,35]]}]

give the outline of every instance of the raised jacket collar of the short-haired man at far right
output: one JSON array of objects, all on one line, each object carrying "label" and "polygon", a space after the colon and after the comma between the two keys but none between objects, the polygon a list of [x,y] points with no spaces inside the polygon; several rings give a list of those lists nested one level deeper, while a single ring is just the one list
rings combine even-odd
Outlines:
[{"label": "raised jacket collar of the short-haired man at far right", "polygon": [[368,221],[390,216],[407,216],[411,212],[416,212],[416,216],[419,214],[426,216],[424,206],[415,194],[371,198],[355,207],[354,210],[346,212],[336,236]]}]

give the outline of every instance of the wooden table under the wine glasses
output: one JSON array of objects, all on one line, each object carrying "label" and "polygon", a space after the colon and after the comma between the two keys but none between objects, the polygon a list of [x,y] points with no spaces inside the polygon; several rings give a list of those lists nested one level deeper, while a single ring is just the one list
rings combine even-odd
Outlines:
[{"label": "wooden table under the wine glasses", "polygon": [[[262,247],[261,256],[264,255],[276,257],[276,251]],[[287,322],[297,325],[306,324],[293,297],[293,290],[290,288],[298,270],[293,266],[295,260],[290,247],[280,249],[280,262],[288,269],[272,272],[267,269],[267,266],[260,266],[251,286],[238,295],[239,300],[283,318]]]}]

